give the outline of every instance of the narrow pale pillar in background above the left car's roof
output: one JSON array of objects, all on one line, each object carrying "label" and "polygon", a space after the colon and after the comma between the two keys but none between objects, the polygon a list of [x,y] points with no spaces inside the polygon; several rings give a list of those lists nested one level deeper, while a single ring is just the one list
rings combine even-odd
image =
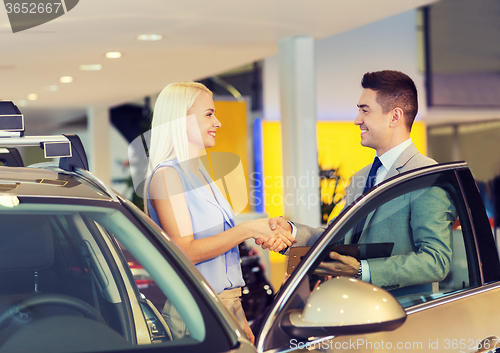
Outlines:
[{"label": "narrow pale pillar in background above the left car's roof", "polygon": [[90,148],[87,150],[92,174],[111,186],[111,158],[109,146],[109,107],[92,106],[87,109]]}]

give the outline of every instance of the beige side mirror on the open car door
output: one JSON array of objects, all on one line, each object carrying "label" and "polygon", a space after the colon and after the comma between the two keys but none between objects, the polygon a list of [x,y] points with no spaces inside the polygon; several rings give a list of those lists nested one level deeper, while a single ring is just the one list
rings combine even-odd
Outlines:
[{"label": "beige side mirror on the open car door", "polygon": [[370,283],[335,277],[319,285],[303,310],[285,315],[281,327],[298,338],[392,331],[406,312],[389,292]]}]

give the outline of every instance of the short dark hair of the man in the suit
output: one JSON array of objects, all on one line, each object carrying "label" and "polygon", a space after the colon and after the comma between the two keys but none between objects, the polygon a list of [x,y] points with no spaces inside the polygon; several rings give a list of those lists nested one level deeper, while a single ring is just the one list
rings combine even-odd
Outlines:
[{"label": "short dark hair of the man in the suit", "polygon": [[413,80],[400,71],[383,70],[367,72],[363,75],[361,86],[377,92],[377,103],[384,113],[401,108],[408,131],[418,111],[417,87]]}]

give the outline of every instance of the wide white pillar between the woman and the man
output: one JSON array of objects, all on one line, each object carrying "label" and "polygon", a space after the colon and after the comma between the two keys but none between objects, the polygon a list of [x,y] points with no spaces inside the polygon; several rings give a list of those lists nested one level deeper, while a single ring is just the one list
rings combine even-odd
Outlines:
[{"label": "wide white pillar between the woman and the man", "polygon": [[278,43],[285,217],[320,225],[314,38]]}]

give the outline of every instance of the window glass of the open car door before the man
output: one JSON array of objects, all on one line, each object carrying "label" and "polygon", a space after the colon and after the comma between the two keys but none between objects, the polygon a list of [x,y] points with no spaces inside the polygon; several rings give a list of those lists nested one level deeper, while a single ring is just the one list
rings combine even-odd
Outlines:
[{"label": "window glass of the open car door before the man", "polygon": [[[480,283],[467,208],[451,172],[388,189],[349,224],[323,251],[323,260],[331,261],[330,251],[345,251],[342,245],[357,244],[363,279],[388,290],[404,307]],[[311,285],[328,279],[327,269],[317,262]]]}]

